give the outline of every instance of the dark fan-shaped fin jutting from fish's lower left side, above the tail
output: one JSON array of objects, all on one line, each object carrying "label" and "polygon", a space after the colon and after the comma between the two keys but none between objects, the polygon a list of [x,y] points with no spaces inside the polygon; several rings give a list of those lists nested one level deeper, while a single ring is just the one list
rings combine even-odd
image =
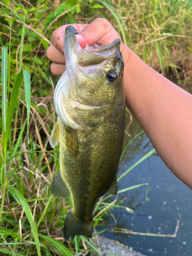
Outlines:
[{"label": "dark fan-shaped fin jutting from fish's lower left side, above the tail", "polygon": [[71,197],[70,191],[66,183],[61,178],[60,172],[56,175],[53,183],[51,184],[51,193],[55,197],[68,198]]}]

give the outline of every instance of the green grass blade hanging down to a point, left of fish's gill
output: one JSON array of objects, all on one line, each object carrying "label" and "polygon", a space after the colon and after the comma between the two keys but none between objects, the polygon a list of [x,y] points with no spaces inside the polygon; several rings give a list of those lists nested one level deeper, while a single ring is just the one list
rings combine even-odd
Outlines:
[{"label": "green grass blade hanging down to a point, left of fish's gill", "polygon": [[29,143],[29,117],[30,117],[30,105],[31,105],[31,79],[29,70],[23,69],[24,84],[25,84],[25,100],[27,105],[27,137]]}]

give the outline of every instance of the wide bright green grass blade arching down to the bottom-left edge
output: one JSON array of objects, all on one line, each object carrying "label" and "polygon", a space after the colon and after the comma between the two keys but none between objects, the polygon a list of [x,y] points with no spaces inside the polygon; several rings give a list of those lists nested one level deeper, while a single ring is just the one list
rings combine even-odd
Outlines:
[{"label": "wide bright green grass blade arching down to the bottom-left edge", "polygon": [[19,204],[21,204],[24,208],[25,214],[27,216],[27,219],[30,223],[30,226],[31,226],[31,229],[32,229],[32,232],[33,232],[33,237],[34,237],[35,245],[36,245],[36,248],[37,248],[37,254],[38,254],[38,256],[41,256],[38,233],[37,233],[37,229],[36,229],[36,226],[35,226],[35,222],[33,220],[32,212],[31,212],[31,209],[29,207],[29,204],[27,203],[27,201],[25,200],[23,195],[20,194],[20,192],[15,187],[9,187],[9,191],[13,195],[15,200],[17,202],[19,202]]}]

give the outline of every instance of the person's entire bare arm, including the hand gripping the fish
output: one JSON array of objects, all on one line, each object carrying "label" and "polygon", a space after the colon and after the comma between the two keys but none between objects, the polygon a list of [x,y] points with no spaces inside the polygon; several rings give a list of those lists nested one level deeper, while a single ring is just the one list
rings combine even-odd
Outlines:
[{"label": "person's entire bare arm, including the hand gripping the fish", "polygon": [[[53,33],[53,44],[65,34],[66,26]],[[113,26],[102,18],[90,25],[73,26],[86,32],[80,33],[81,47],[98,42],[97,38],[104,45],[119,38]],[[51,66],[56,75],[65,71],[62,45],[60,40],[55,48],[48,49],[50,60],[57,62]],[[192,189],[192,95],[147,66],[123,43],[121,52],[125,61],[123,83],[127,105],[164,163]]]}]

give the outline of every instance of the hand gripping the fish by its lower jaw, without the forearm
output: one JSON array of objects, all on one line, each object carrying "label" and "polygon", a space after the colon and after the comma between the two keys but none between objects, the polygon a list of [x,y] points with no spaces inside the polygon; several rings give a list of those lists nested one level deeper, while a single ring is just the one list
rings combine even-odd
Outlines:
[{"label": "hand gripping the fish by its lower jaw, without the forearm", "polygon": [[[65,40],[65,30],[68,26],[70,25],[61,26],[53,32],[51,42],[54,46],[49,46],[47,50],[47,57],[53,62],[51,64],[51,72],[58,76],[61,76],[66,70],[66,59],[65,56],[63,56],[63,42]],[[76,35],[76,38],[82,48],[85,48],[86,44],[89,44],[89,46],[93,44],[103,44],[104,46],[109,45],[115,39],[120,38],[111,23],[104,18],[96,18],[89,25],[73,24],[72,26],[80,32]],[[124,50],[125,48],[126,51]],[[127,51],[127,49],[129,48],[125,47],[121,41],[120,50],[124,60],[127,58],[127,55],[129,55],[129,50]]]}]

